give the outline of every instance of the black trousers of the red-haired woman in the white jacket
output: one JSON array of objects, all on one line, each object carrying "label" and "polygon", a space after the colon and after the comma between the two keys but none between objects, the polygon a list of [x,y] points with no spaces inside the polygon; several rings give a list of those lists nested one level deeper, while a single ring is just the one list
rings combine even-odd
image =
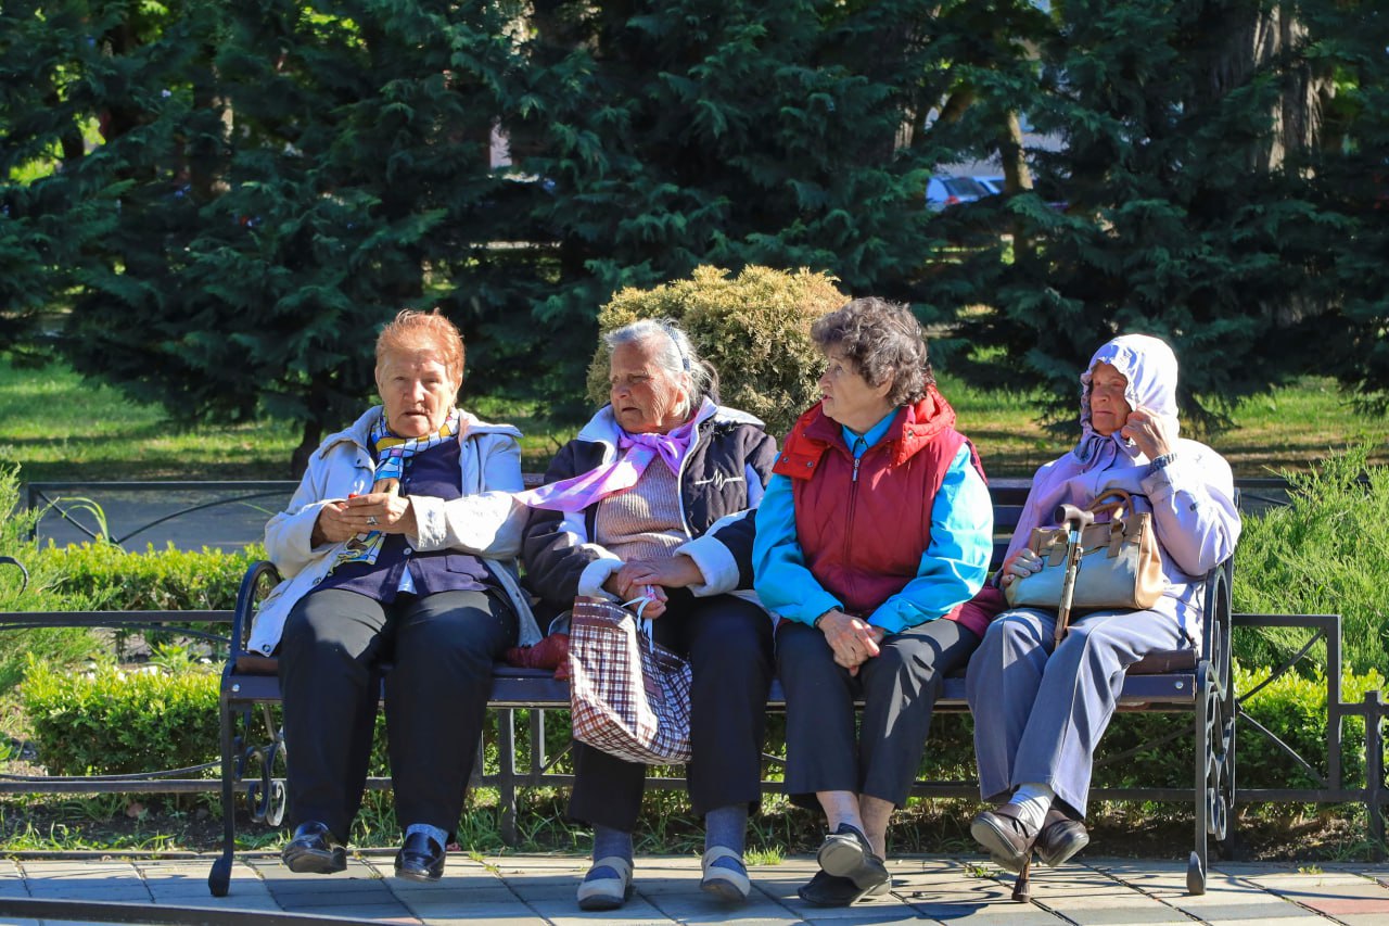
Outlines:
[{"label": "black trousers of the red-haired woman in the white jacket", "polygon": [[453,834],[492,692],[492,663],[517,616],[481,591],[400,595],[390,605],[340,588],[306,595],[285,622],[289,815],[346,840],[361,808],[372,727],[386,674],[386,740],[401,827]]}]

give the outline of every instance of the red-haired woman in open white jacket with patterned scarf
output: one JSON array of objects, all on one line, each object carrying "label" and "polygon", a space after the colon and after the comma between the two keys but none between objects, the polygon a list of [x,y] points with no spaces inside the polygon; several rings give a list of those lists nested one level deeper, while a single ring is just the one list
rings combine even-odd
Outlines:
[{"label": "red-haired woman in open white jacket with patterned scarf", "polygon": [[401,311],[376,341],[382,405],[314,452],[265,526],[285,576],[250,648],[279,653],[294,872],[346,868],[361,806],[381,666],[396,813],[396,875],[431,882],[463,811],[492,663],[539,640],[515,556],[519,432],[456,406],[463,339]]}]

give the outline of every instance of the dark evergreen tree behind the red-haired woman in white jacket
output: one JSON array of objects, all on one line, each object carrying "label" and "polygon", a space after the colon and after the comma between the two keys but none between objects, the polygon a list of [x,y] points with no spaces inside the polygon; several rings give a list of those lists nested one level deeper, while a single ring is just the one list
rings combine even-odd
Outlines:
[{"label": "dark evergreen tree behind the red-haired woman in white jacket", "polygon": [[299,420],[297,469],[372,393],[375,334],[399,309],[442,304],[476,331],[488,243],[508,227],[488,140],[510,17],[429,0],[203,11],[161,47],[208,57],[133,83],[149,128],[101,147],[128,186],[69,356],[181,420]]}]

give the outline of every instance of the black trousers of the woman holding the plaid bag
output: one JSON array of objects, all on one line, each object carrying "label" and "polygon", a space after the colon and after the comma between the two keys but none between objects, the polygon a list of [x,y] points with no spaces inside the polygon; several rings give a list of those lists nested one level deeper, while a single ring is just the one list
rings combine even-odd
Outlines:
[{"label": "black trousers of the woman holding the plaid bag", "polygon": [[[690,752],[685,767],[700,816],[731,804],[761,802],[763,734],[772,680],[771,617],[757,605],[669,590],[656,641],[690,660]],[[642,808],[646,766],[583,742],[574,744],[569,816],[632,831]]]}]

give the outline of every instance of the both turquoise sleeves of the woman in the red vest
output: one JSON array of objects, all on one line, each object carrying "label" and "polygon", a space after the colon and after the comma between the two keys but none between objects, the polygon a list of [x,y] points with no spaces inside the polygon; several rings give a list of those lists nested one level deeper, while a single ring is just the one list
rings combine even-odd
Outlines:
[{"label": "both turquoise sleeves of the woman in the red vest", "polygon": [[[932,506],[931,545],[921,556],[917,578],[883,602],[870,623],[897,633],[949,613],[983,585],[992,553],[989,488],[970,462],[970,448],[963,446]],[[782,617],[808,624],[832,608],[843,608],[806,567],[796,539],[790,480],[785,476],[771,478],[757,509],[753,570],[763,606]]]}]

